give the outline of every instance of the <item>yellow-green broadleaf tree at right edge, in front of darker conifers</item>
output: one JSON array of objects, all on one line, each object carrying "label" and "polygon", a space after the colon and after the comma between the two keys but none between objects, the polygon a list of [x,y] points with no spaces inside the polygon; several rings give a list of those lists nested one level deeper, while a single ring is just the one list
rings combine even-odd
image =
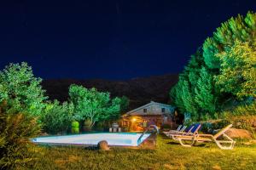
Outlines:
[{"label": "yellow-green broadleaf tree at right edge, in front of darker conifers", "polygon": [[217,55],[221,61],[220,74],[216,76],[221,90],[239,99],[256,97],[256,43],[240,42]]}]

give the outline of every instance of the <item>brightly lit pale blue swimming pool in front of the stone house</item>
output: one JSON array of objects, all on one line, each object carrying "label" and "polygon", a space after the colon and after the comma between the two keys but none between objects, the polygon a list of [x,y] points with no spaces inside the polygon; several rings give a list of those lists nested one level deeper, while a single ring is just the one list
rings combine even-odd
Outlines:
[{"label": "brightly lit pale blue swimming pool in front of the stone house", "polygon": [[137,141],[142,133],[87,133],[66,136],[50,136],[32,139],[35,144],[55,144],[55,145],[96,145],[102,140],[106,140],[108,145],[113,146],[138,146],[150,133],[145,133]]}]

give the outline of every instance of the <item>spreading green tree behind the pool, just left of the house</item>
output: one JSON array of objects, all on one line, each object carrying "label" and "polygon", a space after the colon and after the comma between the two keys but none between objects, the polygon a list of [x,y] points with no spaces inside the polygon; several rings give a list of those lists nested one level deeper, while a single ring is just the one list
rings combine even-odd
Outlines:
[{"label": "spreading green tree behind the pool, just left of the house", "polygon": [[109,93],[98,92],[96,88],[71,85],[69,96],[74,105],[74,117],[78,121],[89,119],[90,128],[95,122],[119,115],[120,99],[110,99]]}]

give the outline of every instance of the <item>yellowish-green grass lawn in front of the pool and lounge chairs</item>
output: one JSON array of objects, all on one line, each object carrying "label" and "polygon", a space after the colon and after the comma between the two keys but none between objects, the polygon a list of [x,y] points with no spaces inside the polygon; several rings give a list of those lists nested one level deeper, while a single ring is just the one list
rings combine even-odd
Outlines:
[{"label": "yellowish-green grass lawn in front of the pool and lounge chairs", "polygon": [[159,136],[156,150],[44,148],[33,169],[256,169],[256,144],[219,150],[215,144],[184,148]]}]

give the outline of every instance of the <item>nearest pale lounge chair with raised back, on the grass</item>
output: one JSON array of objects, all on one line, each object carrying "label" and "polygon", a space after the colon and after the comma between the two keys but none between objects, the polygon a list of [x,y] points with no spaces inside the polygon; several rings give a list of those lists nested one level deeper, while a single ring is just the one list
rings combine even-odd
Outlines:
[{"label": "nearest pale lounge chair with raised back, on the grass", "polygon": [[[180,144],[186,147],[191,147],[195,145],[196,142],[215,142],[218,147],[222,150],[232,150],[235,145],[235,141],[231,139],[225,132],[232,127],[232,124],[224,127],[218,133],[212,134],[195,134],[195,135],[180,135],[176,137],[176,140]],[[218,139],[219,137],[224,137],[225,139]],[[189,141],[190,144],[185,144],[184,141]],[[224,145],[228,144],[228,145]]]}]

